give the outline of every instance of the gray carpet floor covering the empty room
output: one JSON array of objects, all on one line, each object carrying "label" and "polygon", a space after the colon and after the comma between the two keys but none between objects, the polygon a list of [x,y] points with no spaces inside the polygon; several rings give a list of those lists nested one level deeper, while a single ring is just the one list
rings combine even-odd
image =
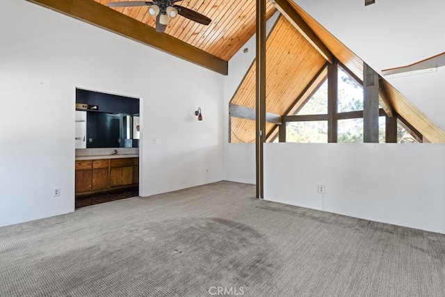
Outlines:
[{"label": "gray carpet floor covering the empty room", "polygon": [[0,296],[445,296],[444,234],[254,191],[218,182],[1,227]]}]

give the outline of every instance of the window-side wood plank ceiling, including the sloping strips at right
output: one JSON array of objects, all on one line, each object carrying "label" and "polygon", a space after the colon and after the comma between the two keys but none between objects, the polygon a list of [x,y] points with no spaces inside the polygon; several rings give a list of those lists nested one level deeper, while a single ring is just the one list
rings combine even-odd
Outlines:
[{"label": "window-side wood plank ceiling, including the sloping strips at right", "polygon": [[[363,79],[363,61],[350,51],[321,24],[305,13],[293,1],[288,1],[324,45],[346,68],[355,74],[359,81]],[[283,8],[283,6],[281,7]],[[292,13],[286,13],[292,15]],[[267,40],[266,51],[266,111],[278,115],[294,113],[313,92],[313,86],[307,86],[314,75],[321,70],[326,60],[302,37],[284,17],[280,17],[270,37]],[[323,79],[324,75],[318,78]],[[316,80],[317,81],[317,80]],[[407,100],[388,81],[380,78],[380,105],[389,116],[392,110],[400,114],[432,143],[445,143],[445,133],[431,122],[416,107]],[[232,98],[231,104],[254,108],[255,104],[255,67],[254,64],[241,82]],[[317,85],[318,83],[314,83]],[[309,87],[309,88],[307,88]],[[306,88],[306,89],[305,89]],[[305,92],[305,93],[302,93]],[[292,106],[296,98],[300,98]],[[268,141],[276,135],[277,125],[266,123]],[[231,117],[231,142],[254,142],[255,125],[253,120]]]}]

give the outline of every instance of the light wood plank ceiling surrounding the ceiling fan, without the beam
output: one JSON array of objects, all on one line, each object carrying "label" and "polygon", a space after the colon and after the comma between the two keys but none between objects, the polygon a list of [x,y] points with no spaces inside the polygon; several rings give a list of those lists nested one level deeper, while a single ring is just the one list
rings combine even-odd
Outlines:
[{"label": "light wood plank ceiling surrounding the ceiling fan, without the beam", "polygon": [[[127,0],[94,1],[106,6],[108,2]],[[255,33],[255,0],[184,0],[176,4],[196,10],[210,17],[212,21],[208,26],[204,26],[178,16],[170,19],[165,34],[225,61],[229,61]],[[149,15],[148,6],[110,9],[115,9],[143,24],[154,27],[155,18]],[[266,11],[267,19],[276,11],[270,1],[266,3]]]}]

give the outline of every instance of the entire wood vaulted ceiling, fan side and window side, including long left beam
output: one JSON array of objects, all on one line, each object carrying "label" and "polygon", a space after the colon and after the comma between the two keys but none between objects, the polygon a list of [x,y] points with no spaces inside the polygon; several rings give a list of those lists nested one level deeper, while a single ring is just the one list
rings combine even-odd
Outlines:
[{"label": "entire wood vaulted ceiling, fan side and window side, including long left beam", "polygon": [[[228,74],[228,61],[243,47],[255,32],[256,1],[183,0],[178,4],[212,19],[208,26],[185,17],[171,19],[165,33],[154,30],[155,20],[147,6],[109,8],[108,1],[128,0],[28,0],[59,13],[81,19],[108,31],[124,35],[150,47],[184,58],[221,74]],[[345,65],[357,81],[362,79],[363,61],[345,47],[323,26],[307,15],[292,0],[266,1],[266,19],[280,10],[282,17],[268,39],[266,79],[267,111],[284,115],[301,106],[314,86],[324,79],[325,63],[337,59]],[[273,4],[275,7],[273,6]],[[234,95],[232,104],[254,107],[254,65]],[[408,120],[431,142],[445,143],[445,133],[407,98],[381,79],[380,105],[391,116],[392,111]],[[252,93],[253,92],[253,93]],[[232,129],[248,142],[254,135],[252,121],[234,118]],[[233,122],[232,122],[233,124]],[[268,123],[268,131],[276,124]],[[232,130],[233,134],[233,130]],[[233,135],[232,135],[233,136]],[[239,135],[238,135],[239,136]],[[234,139],[232,139],[234,140]]]}]

